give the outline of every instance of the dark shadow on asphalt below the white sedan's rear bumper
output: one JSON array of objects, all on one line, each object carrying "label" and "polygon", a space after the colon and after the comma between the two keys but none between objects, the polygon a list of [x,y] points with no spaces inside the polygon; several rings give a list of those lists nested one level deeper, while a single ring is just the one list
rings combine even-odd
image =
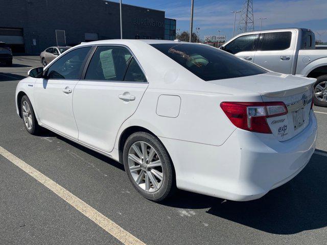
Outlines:
[{"label": "dark shadow on asphalt below the white sedan's rear bumper", "polygon": [[224,201],[182,191],[162,204],[186,209],[209,208],[209,214],[273,234],[323,228],[327,226],[327,157],[314,154],[293,180],[258,200]]}]

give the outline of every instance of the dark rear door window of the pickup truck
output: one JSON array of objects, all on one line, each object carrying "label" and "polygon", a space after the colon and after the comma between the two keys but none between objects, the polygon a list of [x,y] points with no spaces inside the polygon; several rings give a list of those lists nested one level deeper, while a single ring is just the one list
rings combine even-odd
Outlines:
[{"label": "dark rear door window of the pickup truck", "polygon": [[261,44],[258,50],[274,51],[287,50],[291,46],[292,33],[291,32],[273,32],[264,33]]}]

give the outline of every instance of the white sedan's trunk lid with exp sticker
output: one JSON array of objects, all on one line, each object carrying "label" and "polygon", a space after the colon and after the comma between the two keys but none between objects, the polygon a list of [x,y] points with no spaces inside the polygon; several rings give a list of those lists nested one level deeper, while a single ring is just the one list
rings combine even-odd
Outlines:
[{"label": "white sedan's trunk lid with exp sticker", "polygon": [[279,141],[285,141],[293,138],[309,125],[315,81],[316,79],[268,72],[233,79],[233,82],[230,80],[211,82],[239,91],[235,95],[256,92],[261,95],[263,102],[284,102],[288,113],[268,117],[267,122],[272,134]]}]

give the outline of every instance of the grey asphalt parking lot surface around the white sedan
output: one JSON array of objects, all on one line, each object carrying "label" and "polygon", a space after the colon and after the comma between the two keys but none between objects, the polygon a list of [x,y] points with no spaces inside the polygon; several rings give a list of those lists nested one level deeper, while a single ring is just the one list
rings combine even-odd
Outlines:
[{"label": "grey asphalt parking lot surface around the white sedan", "polygon": [[[326,243],[327,108],[314,107],[317,150],[309,164],[263,198],[238,203],[178,191],[157,204],[134,190],[119,163],[46,130],[28,134],[15,111],[15,88],[38,66],[38,56],[0,64],[0,148],[120,226],[121,234],[145,244]],[[2,155],[0,180],[0,244],[122,244],[110,227]]]}]

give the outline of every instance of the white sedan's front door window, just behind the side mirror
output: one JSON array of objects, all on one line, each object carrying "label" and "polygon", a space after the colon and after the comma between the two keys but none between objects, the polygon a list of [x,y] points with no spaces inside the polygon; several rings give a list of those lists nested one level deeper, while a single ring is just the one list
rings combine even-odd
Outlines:
[{"label": "white sedan's front door window, just behind the side mirror", "polygon": [[90,48],[76,48],[76,50],[63,55],[46,71],[48,79],[80,79],[83,62]]}]

